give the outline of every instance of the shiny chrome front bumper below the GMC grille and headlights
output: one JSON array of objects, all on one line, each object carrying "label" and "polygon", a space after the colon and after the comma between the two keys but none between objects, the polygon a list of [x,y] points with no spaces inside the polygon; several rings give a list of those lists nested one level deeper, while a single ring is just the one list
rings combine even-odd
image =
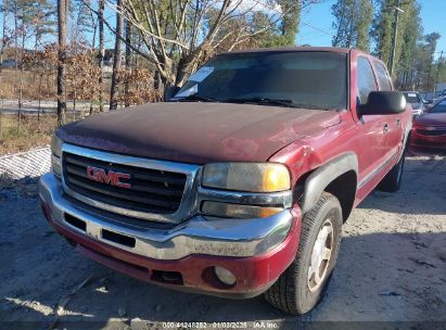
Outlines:
[{"label": "shiny chrome front bumper below the GMC grille and headlights", "polygon": [[[179,259],[191,254],[249,257],[264,254],[288,236],[293,214],[284,210],[273,216],[256,219],[215,218],[195,215],[170,229],[154,229],[125,223],[107,213],[81,207],[64,195],[62,182],[53,174],[46,174],[39,182],[39,195],[52,220],[89,239],[128,252],[155,258]],[[81,230],[65,220],[71,215],[86,223]],[[104,239],[103,231],[135,239],[135,246]]]}]

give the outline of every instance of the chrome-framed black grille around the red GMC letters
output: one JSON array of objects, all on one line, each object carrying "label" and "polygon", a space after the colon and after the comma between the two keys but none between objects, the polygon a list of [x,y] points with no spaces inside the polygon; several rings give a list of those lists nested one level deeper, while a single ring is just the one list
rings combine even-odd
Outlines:
[{"label": "chrome-framed black grille around the red GMC letters", "polygon": [[[191,212],[191,190],[199,166],[88,150],[62,148],[64,190],[75,199],[110,212],[150,220],[177,223]],[[129,175],[110,185],[89,178],[88,167]]]}]

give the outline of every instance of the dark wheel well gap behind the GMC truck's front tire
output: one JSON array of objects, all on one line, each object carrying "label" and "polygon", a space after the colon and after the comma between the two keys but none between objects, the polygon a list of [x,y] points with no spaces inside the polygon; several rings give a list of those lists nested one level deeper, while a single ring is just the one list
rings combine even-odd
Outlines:
[{"label": "dark wheel well gap behind the GMC truck's front tire", "polygon": [[353,210],[356,196],[357,178],[354,170],[349,170],[335,178],[326,187],[324,191],[333,194],[341,203],[344,223]]}]

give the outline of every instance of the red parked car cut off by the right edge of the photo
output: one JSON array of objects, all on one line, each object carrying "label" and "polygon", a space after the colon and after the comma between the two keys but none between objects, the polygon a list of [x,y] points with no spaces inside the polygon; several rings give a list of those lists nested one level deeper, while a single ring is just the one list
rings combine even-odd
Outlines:
[{"label": "red parked car cut off by the right edge of the photo", "polygon": [[411,144],[422,148],[446,149],[446,100],[415,119]]}]

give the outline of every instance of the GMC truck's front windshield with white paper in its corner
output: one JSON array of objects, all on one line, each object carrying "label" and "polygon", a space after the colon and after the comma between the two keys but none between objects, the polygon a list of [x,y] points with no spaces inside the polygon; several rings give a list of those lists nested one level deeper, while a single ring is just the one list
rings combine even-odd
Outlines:
[{"label": "GMC truck's front windshield with white paper in its corner", "polygon": [[175,99],[188,97],[194,100],[200,97],[202,101],[344,110],[347,107],[347,56],[293,51],[217,55],[189,78]]}]

